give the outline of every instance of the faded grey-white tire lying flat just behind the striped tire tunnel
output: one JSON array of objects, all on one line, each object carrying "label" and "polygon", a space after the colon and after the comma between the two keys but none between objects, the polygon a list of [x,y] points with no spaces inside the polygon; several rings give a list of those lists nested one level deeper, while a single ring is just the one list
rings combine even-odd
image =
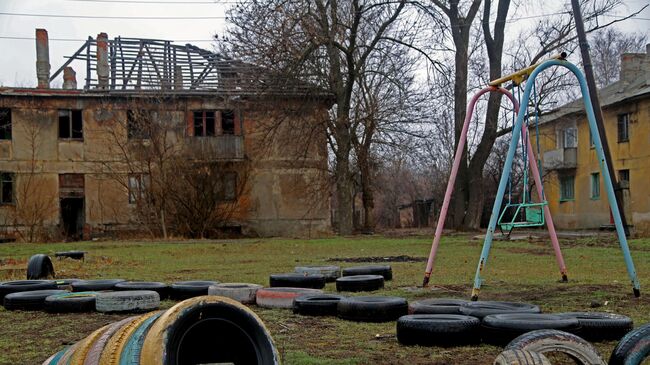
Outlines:
[{"label": "faded grey-white tire lying flat just behind the striped tire tunnel", "polygon": [[145,312],[160,307],[160,296],[152,290],[128,290],[97,294],[98,312]]}]

